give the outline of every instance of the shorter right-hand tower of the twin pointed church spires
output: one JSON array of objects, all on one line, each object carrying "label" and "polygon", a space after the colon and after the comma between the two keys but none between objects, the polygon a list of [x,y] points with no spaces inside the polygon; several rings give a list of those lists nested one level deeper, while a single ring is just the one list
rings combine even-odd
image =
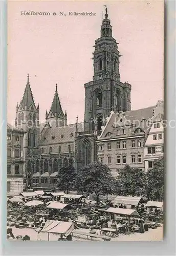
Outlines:
[{"label": "shorter right-hand tower of the twin pointed church spires", "polygon": [[65,115],[63,114],[57,92],[57,83],[51,109],[49,113],[46,111],[46,122],[48,122],[51,127],[67,125],[67,112],[65,111]]}]

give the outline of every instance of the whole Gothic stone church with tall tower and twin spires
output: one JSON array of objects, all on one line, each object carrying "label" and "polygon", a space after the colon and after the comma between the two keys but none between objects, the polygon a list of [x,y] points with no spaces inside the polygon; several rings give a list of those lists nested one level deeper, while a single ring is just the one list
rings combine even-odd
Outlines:
[{"label": "whole Gothic stone church with tall tower and twin spires", "polygon": [[58,169],[74,166],[79,170],[97,160],[97,137],[114,113],[131,110],[131,85],[120,81],[120,52],[112,35],[107,8],[102,20],[100,37],[95,40],[93,80],[84,84],[84,121],[67,124],[67,112],[62,110],[57,84],[46,122],[39,123],[39,104],[35,104],[30,78],[23,98],[16,106],[16,127],[24,134],[24,185],[35,188],[57,186]]}]

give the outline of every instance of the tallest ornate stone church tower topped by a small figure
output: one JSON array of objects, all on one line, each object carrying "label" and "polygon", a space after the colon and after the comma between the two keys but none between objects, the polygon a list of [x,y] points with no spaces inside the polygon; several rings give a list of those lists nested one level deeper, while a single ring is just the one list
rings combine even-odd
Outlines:
[{"label": "tallest ornate stone church tower topped by a small figure", "polygon": [[107,8],[102,21],[101,36],[95,40],[93,81],[84,84],[84,131],[101,130],[112,108],[114,112],[129,111],[131,85],[120,81],[120,52],[112,36]]}]

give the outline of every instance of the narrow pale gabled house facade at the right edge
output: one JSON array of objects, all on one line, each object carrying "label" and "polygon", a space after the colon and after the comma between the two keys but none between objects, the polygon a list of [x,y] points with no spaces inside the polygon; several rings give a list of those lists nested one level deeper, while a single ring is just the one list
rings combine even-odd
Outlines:
[{"label": "narrow pale gabled house facade at the right edge", "polygon": [[158,102],[155,118],[148,129],[144,143],[144,165],[145,172],[153,168],[153,161],[164,154],[164,103]]}]

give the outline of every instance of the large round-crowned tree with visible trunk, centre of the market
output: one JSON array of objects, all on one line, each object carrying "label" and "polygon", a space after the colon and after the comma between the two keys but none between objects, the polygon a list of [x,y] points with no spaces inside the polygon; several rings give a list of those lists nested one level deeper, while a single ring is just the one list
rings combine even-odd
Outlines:
[{"label": "large round-crowned tree with visible trunk, centre of the market", "polygon": [[114,178],[111,169],[100,162],[93,162],[82,167],[76,177],[78,191],[85,192],[87,195],[95,193],[97,204],[100,195],[112,194]]}]

